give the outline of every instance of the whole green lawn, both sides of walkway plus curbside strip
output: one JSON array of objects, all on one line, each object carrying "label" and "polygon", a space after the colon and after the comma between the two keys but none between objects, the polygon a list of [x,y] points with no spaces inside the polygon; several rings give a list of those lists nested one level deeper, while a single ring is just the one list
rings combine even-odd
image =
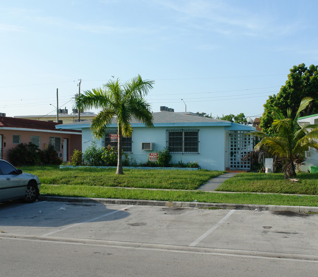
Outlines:
[{"label": "whole green lawn, both sides of walkway plus curbside strip", "polygon": [[59,169],[57,166],[42,166],[23,167],[22,170],[40,177],[41,194],[44,195],[318,206],[318,174],[297,174],[299,181],[292,183],[284,180],[282,174],[242,173],[228,179],[218,189],[237,193],[213,193],[195,189],[223,172],[126,169],[124,175],[118,176],[115,175],[115,169]]}]

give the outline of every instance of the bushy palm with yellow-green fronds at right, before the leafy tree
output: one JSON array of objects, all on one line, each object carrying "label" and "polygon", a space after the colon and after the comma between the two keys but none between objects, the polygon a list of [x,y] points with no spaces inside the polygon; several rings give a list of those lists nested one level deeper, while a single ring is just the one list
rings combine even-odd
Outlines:
[{"label": "bushy palm with yellow-green fronds at right, before the leafy tree", "polygon": [[283,163],[284,178],[295,177],[295,161],[305,157],[305,151],[318,150],[318,125],[299,126],[298,118],[312,101],[310,97],[302,99],[299,108],[292,117],[292,109],[288,108],[285,117],[280,109],[267,106],[272,111],[274,121],[273,126],[276,130],[273,136],[269,136],[263,132],[257,132],[255,135],[262,138],[255,146],[255,151],[268,150],[272,155],[279,157]]}]

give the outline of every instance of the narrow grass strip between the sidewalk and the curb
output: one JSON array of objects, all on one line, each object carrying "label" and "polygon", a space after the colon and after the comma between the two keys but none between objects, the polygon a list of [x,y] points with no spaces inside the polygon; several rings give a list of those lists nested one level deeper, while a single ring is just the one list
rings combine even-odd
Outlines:
[{"label": "narrow grass strip between the sidewalk and the curb", "polygon": [[126,189],[75,185],[42,185],[41,194],[47,196],[136,199],[157,201],[195,201],[208,203],[237,203],[260,205],[318,206],[312,195],[280,195],[258,193],[210,193],[203,191]]}]

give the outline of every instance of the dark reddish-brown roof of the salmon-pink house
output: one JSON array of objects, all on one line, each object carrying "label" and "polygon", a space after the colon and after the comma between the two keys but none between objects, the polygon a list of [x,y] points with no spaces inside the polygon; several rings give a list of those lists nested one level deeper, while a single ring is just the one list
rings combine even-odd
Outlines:
[{"label": "dark reddish-brown roof of the salmon-pink house", "polygon": [[[55,126],[58,125],[56,122],[47,122],[31,119],[13,118],[0,116],[0,128],[1,127],[14,127],[14,128],[30,128],[30,129],[41,129],[41,130],[54,130]],[[71,131],[74,130],[64,130]]]}]

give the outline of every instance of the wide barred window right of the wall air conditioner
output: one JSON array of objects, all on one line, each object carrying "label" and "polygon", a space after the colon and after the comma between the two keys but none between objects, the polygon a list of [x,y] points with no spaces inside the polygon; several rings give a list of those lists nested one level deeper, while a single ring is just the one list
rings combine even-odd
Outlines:
[{"label": "wide barred window right of the wall air conditioner", "polygon": [[167,130],[166,146],[172,154],[199,154],[199,130]]}]

